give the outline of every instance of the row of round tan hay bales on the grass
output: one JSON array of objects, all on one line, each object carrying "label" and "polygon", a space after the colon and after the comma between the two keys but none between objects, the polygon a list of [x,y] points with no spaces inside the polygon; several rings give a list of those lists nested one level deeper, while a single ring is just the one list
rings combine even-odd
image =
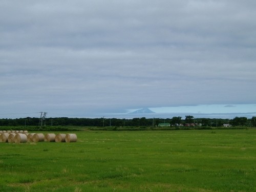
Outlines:
[{"label": "row of round tan hay bales on the grass", "polygon": [[42,133],[9,133],[0,135],[0,142],[26,143],[26,142],[76,142],[76,134],[42,134]]}]

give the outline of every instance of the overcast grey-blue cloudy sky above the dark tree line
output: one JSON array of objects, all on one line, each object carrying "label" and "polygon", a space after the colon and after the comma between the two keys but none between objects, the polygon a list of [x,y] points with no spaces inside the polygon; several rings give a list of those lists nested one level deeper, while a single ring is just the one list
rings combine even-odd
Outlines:
[{"label": "overcast grey-blue cloudy sky above the dark tree line", "polygon": [[249,0],[2,0],[0,118],[141,108],[160,116],[185,106],[212,114],[215,105],[256,112],[255,8]]}]

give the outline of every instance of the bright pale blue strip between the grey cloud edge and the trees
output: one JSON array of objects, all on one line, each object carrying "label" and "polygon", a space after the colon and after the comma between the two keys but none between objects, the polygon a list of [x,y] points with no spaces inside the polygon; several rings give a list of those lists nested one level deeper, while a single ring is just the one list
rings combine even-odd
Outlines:
[{"label": "bright pale blue strip between the grey cloud edge and the trees", "polygon": [[233,119],[234,117],[251,118],[256,116],[256,104],[207,104],[189,106],[170,106],[161,108],[148,108],[154,113],[133,113],[140,109],[127,110],[127,113],[106,114],[109,118],[172,118],[181,116],[185,119],[186,115],[195,118],[222,118]]}]

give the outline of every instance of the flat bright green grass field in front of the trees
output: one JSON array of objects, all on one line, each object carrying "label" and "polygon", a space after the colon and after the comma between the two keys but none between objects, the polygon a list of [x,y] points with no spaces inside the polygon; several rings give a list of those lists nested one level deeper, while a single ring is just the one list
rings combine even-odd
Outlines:
[{"label": "flat bright green grass field in front of the trees", "polygon": [[255,129],[73,133],[0,143],[0,191],[256,191]]}]

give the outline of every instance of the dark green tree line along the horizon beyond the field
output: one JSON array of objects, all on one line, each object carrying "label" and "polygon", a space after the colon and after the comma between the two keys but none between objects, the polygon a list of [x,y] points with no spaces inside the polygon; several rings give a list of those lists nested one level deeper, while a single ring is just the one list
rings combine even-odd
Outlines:
[{"label": "dark green tree line along the horizon beyond the field", "polygon": [[16,119],[0,119],[0,126],[158,126],[159,123],[169,123],[171,126],[223,126],[230,124],[232,126],[256,126],[256,117],[251,119],[247,117],[234,117],[233,119],[210,119],[194,118],[194,116],[172,117],[172,118],[68,118],[56,117],[40,118],[26,117]]}]

